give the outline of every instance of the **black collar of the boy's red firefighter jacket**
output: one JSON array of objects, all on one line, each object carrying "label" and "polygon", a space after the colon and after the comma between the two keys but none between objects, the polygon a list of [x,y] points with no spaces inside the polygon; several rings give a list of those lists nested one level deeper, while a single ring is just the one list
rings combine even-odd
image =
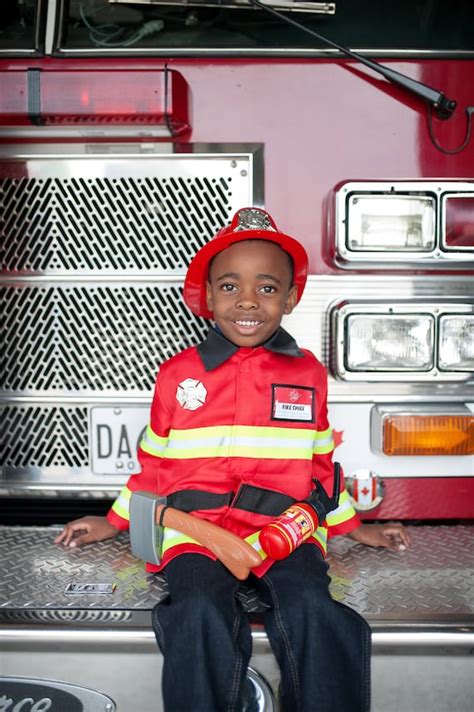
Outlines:
[{"label": "black collar of the boy's red firefighter jacket", "polygon": [[[262,347],[284,356],[295,356],[297,358],[304,356],[294,338],[281,326],[268,341],[262,344]],[[204,341],[197,347],[197,350],[206,371],[213,371],[233,356],[239,350],[239,347],[226,339],[216,329],[210,329]]]}]

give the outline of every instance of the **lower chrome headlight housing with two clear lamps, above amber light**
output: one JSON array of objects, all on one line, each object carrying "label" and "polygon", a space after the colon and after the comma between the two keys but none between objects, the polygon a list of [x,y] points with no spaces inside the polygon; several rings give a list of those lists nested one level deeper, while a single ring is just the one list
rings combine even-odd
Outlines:
[{"label": "lower chrome headlight housing with two clear lamps, above amber light", "polygon": [[332,310],[332,370],[344,381],[467,381],[474,305],[421,299],[343,302]]}]

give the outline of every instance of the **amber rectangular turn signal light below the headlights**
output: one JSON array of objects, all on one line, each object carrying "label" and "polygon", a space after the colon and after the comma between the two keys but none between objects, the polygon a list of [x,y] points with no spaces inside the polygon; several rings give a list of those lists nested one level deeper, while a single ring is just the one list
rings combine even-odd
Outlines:
[{"label": "amber rectangular turn signal light below the headlights", "polygon": [[385,455],[472,455],[474,416],[386,415]]}]

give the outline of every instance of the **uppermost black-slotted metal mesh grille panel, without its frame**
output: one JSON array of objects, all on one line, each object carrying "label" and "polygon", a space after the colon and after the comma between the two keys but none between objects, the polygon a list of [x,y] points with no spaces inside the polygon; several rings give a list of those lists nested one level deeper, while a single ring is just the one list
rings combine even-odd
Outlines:
[{"label": "uppermost black-slotted metal mesh grille panel, without its frame", "polygon": [[232,177],[3,178],[6,272],[183,271],[228,223]]}]

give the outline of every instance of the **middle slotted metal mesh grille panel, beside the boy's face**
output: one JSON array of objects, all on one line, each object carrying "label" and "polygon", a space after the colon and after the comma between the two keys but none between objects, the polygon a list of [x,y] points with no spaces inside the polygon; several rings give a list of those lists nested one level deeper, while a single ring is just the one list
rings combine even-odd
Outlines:
[{"label": "middle slotted metal mesh grille panel, beside the boy's face", "polygon": [[178,286],[5,287],[2,389],[150,391],[157,366],[207,326]]}]

